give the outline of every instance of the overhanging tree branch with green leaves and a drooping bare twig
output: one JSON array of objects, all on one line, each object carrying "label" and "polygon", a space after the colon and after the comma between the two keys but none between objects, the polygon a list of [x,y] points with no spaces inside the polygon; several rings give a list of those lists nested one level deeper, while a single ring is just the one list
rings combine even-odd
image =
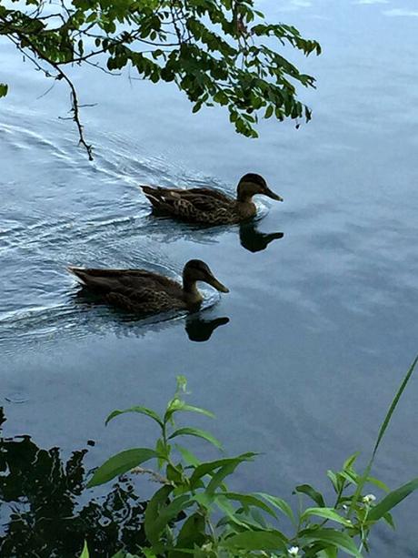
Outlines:
[{"label": "overhanging tree branch with green leaves and a drooping bare twig", "polygon": [[[15,3],[15,2],[14,2]],[[227,107],[237,132],[257,137],[264,117],[311,118],[296,85],[314,86],[279,50],[285,45],[320,54],[292,25],[270,24],[254,0],[25,0],[0,5],[6,36],[45,76],[70,87],[73,118],[90,157],[67,66],[90,65],[114,74],[124,66],[153,83],[171,82],[193,103]],[[0,85],[0,96],[7,93]]]}]

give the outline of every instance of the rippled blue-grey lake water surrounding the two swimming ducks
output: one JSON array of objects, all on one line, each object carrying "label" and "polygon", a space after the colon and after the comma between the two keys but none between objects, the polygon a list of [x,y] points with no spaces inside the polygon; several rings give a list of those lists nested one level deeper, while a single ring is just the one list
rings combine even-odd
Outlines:
[{"label": "rippled blue-grey lake water surrounding the two swimming ducks", "polygon": [[[154,440],[145,419],[104,428],[107,413],[161,408],[184,373],[194,403],[218,417],[204,428],[231,453],[264,452],[237,489],[286,498],[300,482],[323,490],[327,469],[353,451],[368,457],[418,346],[416,9],[412,0],[260,4],[319,39],[323,56],[296,58],[318,79],[304,92],[314,120],[299,130],[268,121],[256,141],[236,136],[222,111],[192,115],[172,86],[77,69],[82,102],[98,103],[83,113],[89,163],[74,127],[57,120],[68,110],[65,87],[36,99],[48,84],[0,43],[11,85],[0,105],[8,435],[65,451],[94,439],[94,466]],[[284,197],[262,202],[253,229],[155,219],[138,188],[232,192],[248,171]],[[267,244],[263,233],[283,235]],[[191,258],[231,292],[207,289],[208,308],[188,319],[133,323],[86,307],[65,272],[68,263],[146,265],[175,275]],[[413,380],[376,462],[393,488],[416,476],[416,394]],[[395,533],[378,530],[373,558],[417,555],[416,498],[395,512]]]}]

